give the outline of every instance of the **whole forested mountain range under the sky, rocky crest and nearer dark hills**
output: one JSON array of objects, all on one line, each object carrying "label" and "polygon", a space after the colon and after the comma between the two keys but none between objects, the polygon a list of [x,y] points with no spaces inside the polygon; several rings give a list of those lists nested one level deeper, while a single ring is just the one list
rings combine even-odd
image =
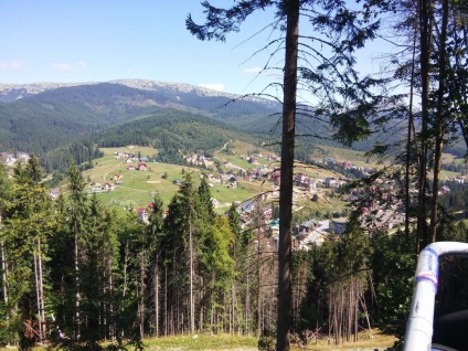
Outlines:
[{"label": "whole forested mountain range under the sky, rocky crest and nearer dark hills", "polygon": [[[326,118],[310,117],[313,111],[306,107],[301,110],[308,113],[297,116],[297,157],[306,160],[317,145],[339,146],[330,138]],[[96,145],[127,141],[170,146],[172,151],[190,147],[206,150],[244,137],[254,143],[262,139],[277,146],[280,117],[281,105],[276,102],[189,84],[142,79],[0,83],[0,151],[34,152],[44,159],[52,152],[49,170],[56,160],[63,164],[76,153],[77,159],[88,160],[98,153],[89,151]],[[391,124],[397,126],[397,121]],[[357,143],[357,148],[369,150],[375,140],[402,138],[398,130],[389,130]]]}]

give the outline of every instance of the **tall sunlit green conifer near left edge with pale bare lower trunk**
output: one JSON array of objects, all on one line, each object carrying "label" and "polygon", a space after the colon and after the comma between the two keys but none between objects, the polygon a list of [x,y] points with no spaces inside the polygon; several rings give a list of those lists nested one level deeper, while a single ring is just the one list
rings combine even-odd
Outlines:
[{"label": "tall sunlit green conifer near left edge with pale bare lower trunk", "polygon": [[44,280],[47,280],[44,257],[47,256],[47,241],[55,225],[54,211],[47,190],[41,184],[43,171],[35,157],[31,156],[25,166],[17,164],[13,173],[18,178],[7,209],[2,248],[4,269],[8,267],[9,277],[20,278],[21,284],[6,279],[12,292],[8,294],[8,298],[13,304],[12,308],[20,308],[19,316],[34,320],[35,336],[42,341],[45,332]]}]

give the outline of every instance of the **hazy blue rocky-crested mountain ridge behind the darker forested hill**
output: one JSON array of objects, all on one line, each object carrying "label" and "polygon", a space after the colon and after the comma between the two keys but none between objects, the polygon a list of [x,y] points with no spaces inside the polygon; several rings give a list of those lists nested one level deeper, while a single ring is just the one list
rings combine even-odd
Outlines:
[{"label": "hazy blue rocky-crested mountain ridge behind the darker forested hill", "polygon": [[124,79],[107,83],[0,84],[0,151],[43,155],[161,109],[204,116],[244,130],[267,130],[277,103],[188,84]]}]

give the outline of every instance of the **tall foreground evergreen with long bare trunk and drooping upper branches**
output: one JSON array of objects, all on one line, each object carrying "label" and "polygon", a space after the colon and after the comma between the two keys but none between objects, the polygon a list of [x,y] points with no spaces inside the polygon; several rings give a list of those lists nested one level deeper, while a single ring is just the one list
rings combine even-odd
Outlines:
[{"label": "tall foreground evergreen with long bare trunk and drooping upper branches", "polygon": [[[278,318],[277,350],[288,350],[287,333],[290,328],[291,300],[291,202],[292,202],[292,167],[296,131],[296,93],[298,76],[299,38],[318,41],[331,51],[331,57],[309,43],[304,45],[302,55],[306,65],[300,67],[300,76],[307,79],[313,94],[323,92],[325,104],[317,115],[327,114],[338,128],[336,137],[344,142],[362,139],[370,135],[370,123],[366,116],[374,115],[382,98],[374,96],[370,88],[377,85],[376,79],[369,77],[359,81],[352,66],[352,53],[362,47],[365,40],[372,39],[377,23],[371,23],[370,13],[374,2],[364,1],[362,11],[351,10],[344,2],[320,1],[238,1],[230,9],[220,9],[208,1],[205,8],[206,22],[199,25],[189,14],[187,28],[200,40],[225,40],[230,32],[238,31],[240,25],[257,10],[275,7],[278,20],[286,28],[285,65],[283,68],[283,138],[281,138],[281,185],[279,217],[279,274],[278,274]],[[299,36],[299,15],[304,12],[318,33]],[[268,46],[268,44],[267,44]],[[309,59],[310,57],[310,59]],[[311,66],[312,61],[317,66]],[[344,67],[341,70],[341,67]],[[333,78],[333,77],[334,78]],[[305,113],[307,115],[307,113]],[[382,123],[374,118],[375,123]],[[349,128],[352,126],[353,128]]]}]

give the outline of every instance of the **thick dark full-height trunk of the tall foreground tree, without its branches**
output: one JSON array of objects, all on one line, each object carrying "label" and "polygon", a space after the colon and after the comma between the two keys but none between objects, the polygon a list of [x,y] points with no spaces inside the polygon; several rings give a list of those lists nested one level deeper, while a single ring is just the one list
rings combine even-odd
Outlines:
[{"label": "thick dark full-height trunk of the tall foreground tree, without its branches", "polygon": [[279,189],[278,313],[276,350],[289,350],[291,322],[291,217],[296,124],[299,0],[285,1],[287,13],[284,71],[281,184]]}]

